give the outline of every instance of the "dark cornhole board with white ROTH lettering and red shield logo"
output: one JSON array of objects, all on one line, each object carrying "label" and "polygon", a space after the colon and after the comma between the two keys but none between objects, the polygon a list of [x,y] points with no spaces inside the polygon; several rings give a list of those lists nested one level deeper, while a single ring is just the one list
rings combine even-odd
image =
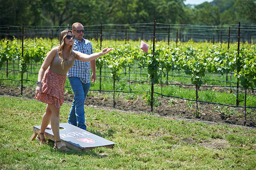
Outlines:
[{"label": "dark cornhole board with white ROTH lettering and red shield logo", "polygon": [[[33,127],[34,134],[31,136],[30,141],[36,138],[40,128],[41,125]],[[46,129],[44,136],[55,141],[52,129]],[[80,151],[89,151],[96,147],[112,148],[116,144],[69,123],[60,124],[60,140],[64,146]]]}]

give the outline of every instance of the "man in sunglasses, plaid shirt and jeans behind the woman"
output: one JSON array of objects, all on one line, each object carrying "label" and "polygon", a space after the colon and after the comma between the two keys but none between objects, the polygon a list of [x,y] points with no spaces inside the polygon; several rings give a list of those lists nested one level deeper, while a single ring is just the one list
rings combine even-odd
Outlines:
[{"label": "man in sunglasses, plaid shirt and jeans behind the woman", "polygon": [[[89,40],[83,38],[84,27],[81,23],[72,25],[72,32],[75,35],[74,51],[80,51],[90,55],[93,53],[92,45]],[[87,130],[85,125],[84,101],[89,91],[91,83],[96,79],[96,61],[82,62],[75,60],[74,66],[67,73],[71,88],[74,92],[74,101],[72,103],[68,123],[78,126],[81,129]],[[92,69],[90,83],[90,67]]]}]

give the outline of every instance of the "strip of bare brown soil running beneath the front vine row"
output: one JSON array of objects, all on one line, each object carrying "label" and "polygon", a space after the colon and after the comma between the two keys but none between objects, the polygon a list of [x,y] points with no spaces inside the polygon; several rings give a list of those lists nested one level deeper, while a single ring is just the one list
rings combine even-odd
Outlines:
[{"label": "strip of bare brown soil running beneath the front vine row", "polygon": [[[216,90],[216,89],[215,89]],[[7,96],[20,96],[20,87],[5,87],[0,86],[0,95]],[[23,87],[23,97],[34,98],[33,87]],[[123,94],[126,95],[126,94]],[[124,96],[119,95],[115,100],[116,105],[113,108],[113,99],[111,97],[104,97],[103,93],[91,92],[85,99],[86,107],[94,107],[96,109],[104,109],[108,111],[128,112],[128,113],[143,113],[148,114],[151,111],[149,104],[146,104],[142,99],[126,100]],[[70,103],[73,101],[73,94],[65,94],[64,102]],[[205,104],[199,103],[199,117],[196,117],[196,104],[188,104],[186,100],[178,98],[159,97],[159,106],[153,108],[154,114],[158,117],[164,117],[175,120],[185,121],[207,121],[209,123],[226,123],[231,125],[244,125],[244,109],[243,108],[228,108],[226,106],[220,106],[217,104]],[[233,114],[226,115],[225,109],[232,109]],[[247,116],[246,126],[256,127],[256,111],[254,110],[251,115]]]}]

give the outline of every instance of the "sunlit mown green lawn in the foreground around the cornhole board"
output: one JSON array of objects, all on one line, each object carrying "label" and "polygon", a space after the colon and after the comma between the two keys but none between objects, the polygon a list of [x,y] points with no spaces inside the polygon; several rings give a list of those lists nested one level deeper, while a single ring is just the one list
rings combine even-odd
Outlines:
[{"label": "sunlit mown green lawn in the foreground around the cornhole board", "polygon": [[[68,104],[60,109],[66,123]],[[62,152],[53,142],[28,141],[46,104],[0,97],[0,169],[255,169],[256,130],[190,123],[148,114],[85,108],[87,130],[115,142],[113,148]],[[186,141],[193,142],[186,142]],[[212,148],[210,143],[225,147]],[[208,145],[207,145],[208,144]]]}]

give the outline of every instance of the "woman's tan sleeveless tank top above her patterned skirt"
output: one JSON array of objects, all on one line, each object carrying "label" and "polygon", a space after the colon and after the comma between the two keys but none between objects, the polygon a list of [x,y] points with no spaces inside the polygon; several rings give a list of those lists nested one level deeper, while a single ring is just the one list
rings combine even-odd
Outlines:
[{"label": "woman's tan sleeveless tank top above her patterned skirt", "polygon": [[68,70],[74,65],[75,53],[73,51],[73,60],[71,61],[65,60],[64,69],[63,69],[62,66],[60,65],[62,59],[59,57],[58,47],[56,47],[56,49],[57,49],[56,56],[53,58],[53,61],[50,64],[50,70],[59,75],[66,75],[66,73],[68,73]]}]

